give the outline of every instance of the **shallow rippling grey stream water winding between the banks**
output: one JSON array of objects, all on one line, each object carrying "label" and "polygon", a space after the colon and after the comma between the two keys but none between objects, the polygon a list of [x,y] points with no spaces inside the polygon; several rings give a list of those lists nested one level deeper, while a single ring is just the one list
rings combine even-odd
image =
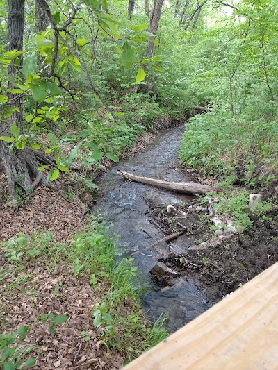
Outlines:
[{"label": "shallow rippling grey stream water winding between the banks", "polygon": [[[120,235],[118,245],[122,256],[151,246],[165,236],[149,222],[145,199],[157,199],[158,203],[163,204],[182,201],[190,205],[194,197],[129,182],[117,175],[117,169],[138,176],[186,182],[187,179],[177,168],[177,153],[183,129],[183,126],[179,126],[159,133],[143,153],[117,163],[99,180],[101,196],[92,212],[99,210],[113,224],[110,232]],[[183,235],[174,242],[174,246],[179,251],[184,251],[190,246],[188,243]],[[160,257],[154,249],[147,248],[134,257],[133,264],[138,267],[138,287],[141,284],[149,287],[142,297],[145,317],[153,321],[166,312],[165,328],[169,333],[173,333],[208,307],[202,293],[194,285],[188,284],[185,278],[177,278],[175,285],[171,287],[161,288],[152,283],[149,271]]]}]

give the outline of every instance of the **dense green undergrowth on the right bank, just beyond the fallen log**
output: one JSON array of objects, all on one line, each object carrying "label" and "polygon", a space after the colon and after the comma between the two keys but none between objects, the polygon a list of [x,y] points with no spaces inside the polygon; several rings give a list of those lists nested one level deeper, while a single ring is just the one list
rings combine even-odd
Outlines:
[{"label": "dense green undergrowth on the right bank, just beyond the fallen log", "polygon": [[216,110],[196,115],[181,139],[180,162],[226,187],[270,187],[278,171],[277,133],[276,121],[250,121]]}]

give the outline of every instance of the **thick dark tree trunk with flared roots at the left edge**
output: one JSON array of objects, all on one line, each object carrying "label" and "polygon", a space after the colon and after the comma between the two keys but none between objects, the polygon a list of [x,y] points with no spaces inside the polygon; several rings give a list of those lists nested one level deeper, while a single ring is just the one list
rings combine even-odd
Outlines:
[{"label": "thick dark tree trunk with flared roots at the left edge", "polygon": [[[22,50],[24,33],[24,3],[25,0],[9,0],[8,15],[8,50]],[[19,58],[19,64],[10,63],[8,74],[14,79],[20,75],[22,67],[22,58]],[[12,80],[11,80],[12,81]],[[8,81],[8,89],[12,90],[15,86]],[[8,92],[8,106],[16,109],[13,114],[6,119],[6,122],[0,126],[0,136],[10,136],[10,126],[15,122],[19,131],[23,133],[23,101],[21,94]],[[25,147],[22,150],[13,148],[9,151],[9,142],[0,140],[0,155],[3,166],[8,178],[8,192],[13,200],[16,199],[15,184],[17,183],[24,190],[32,190],[40,181],[43,181],[42,172],[37,171],[38,165],[35,155],[31,148]]]}]

